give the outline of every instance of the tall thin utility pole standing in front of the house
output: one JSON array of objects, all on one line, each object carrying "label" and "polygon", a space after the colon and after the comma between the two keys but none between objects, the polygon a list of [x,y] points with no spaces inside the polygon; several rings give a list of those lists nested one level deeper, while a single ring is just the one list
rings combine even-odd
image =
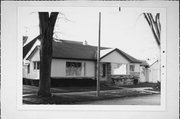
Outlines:
[{"label": "tall thin utility pole standing in front of the house", "polygon": [[99,33],[98,33],[98,48],[97,48],[97,97],[100,94],[100,42],[101,41],[101,12],[99,12]]}]

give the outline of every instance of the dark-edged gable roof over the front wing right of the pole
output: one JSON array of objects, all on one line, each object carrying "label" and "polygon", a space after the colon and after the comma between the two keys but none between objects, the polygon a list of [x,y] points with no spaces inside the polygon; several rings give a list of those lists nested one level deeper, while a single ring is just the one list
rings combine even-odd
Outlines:
[{"label": "dark-edged gable roof over the front wing right of the pole", "polygon": [[120,55],[124,56],[129,62],[131,63],[141,63],[140,60],[130,56],[129,54],[123,52],[122,50],[119,50],[118,48],[115,48],[114,50],[112,50],[111,52],[105,54],[104,56],[101,57],[101,59],[103,59],[104,57],[106,57],[107,55],[111,54],[112,52],[117,51]]}]

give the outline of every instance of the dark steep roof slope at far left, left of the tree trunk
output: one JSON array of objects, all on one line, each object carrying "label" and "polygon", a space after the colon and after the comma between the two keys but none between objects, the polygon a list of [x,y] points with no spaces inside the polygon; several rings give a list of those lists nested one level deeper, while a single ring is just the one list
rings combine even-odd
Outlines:
[{"label": "dark steep roof slope at far left, left of the tree trunk", "polygon": [[40,35],[37,36],[36,38],[34,38],[32,41],[30,41],[28,44],[26,44],[23,47],[23,59],[25,58],[25,56],[28,54],[28,52],[30,51],[30,49],[33,47],[34,43],[36,42],[37,39],[40,39]]}]

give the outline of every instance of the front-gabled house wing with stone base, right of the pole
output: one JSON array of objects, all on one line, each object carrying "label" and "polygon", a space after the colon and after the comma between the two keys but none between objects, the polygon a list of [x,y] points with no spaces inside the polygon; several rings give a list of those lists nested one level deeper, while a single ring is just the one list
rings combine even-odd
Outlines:
[{"label": "front-gabled house wing with stone base, right of the pole", "polygon": [[102,79],[114,79],[119,85],[133,84],[134,78],[140,78],[140,64],[140,60],[117,48],[113,49],[101,57]]}]

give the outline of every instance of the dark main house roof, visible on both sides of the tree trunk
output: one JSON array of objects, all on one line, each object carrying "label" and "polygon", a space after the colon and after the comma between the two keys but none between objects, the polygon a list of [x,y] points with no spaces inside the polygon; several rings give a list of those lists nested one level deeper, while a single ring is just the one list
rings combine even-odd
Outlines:
[{"label": "dark main house roof, visible on both sides of the tree trunk", "polygon": [[[31,42],[23,47],[23,59],[33,47],[40,36],[34,38]],[[101,47],[101,50],[108,49]],[[34,50],[33,50],[34,51]],[[76,41],[53,40],[52,58],[56,59],[76,59],[76,60],[96,60],[97,47],[91,45],[83,45]],[[30,53],[31,55],[32,53]],[[28,56],[29,57],[29,56]]]}]

